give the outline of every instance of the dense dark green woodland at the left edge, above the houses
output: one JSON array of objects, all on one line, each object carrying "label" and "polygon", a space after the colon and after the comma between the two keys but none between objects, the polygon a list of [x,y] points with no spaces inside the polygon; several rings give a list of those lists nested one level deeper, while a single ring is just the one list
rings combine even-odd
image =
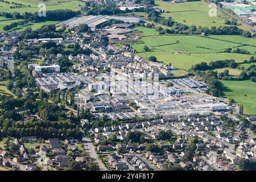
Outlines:
[{"label": "dense dark green woodland at the left edge, above the houses", "polygon": [[[0,127],[1,137],[37,136],[44,138],[81,138],[76,118],[68,117],[64,106],[50,104],[46,100],[36,100],[37,95],[27,92],[22,98],[0,96]],[[15,108],[30,109],[31,114],[37,114],[41,119],[20,122],[23,114],[18,114]]]}]

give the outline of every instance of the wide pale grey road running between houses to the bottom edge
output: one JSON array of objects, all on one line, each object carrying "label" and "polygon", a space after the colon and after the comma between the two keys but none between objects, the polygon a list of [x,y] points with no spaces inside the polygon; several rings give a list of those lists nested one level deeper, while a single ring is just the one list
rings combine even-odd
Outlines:
[{"label": "wide pale grey road running between houses to the bottom edge", "polygon": [[98,166],[100,167],[100,171],[108,171],[108,169],[105,167],[105,165],[102,164],[100,159],[98,159],[98,155],[96,154],[96,152],[94,150],[92,141],[89,138],[82,138],[82,140],[85,141],[84,148],[85,148],[86,152],[88,152],[90,158],[92,158],[94,160],[94,162],[96,162],[98,164]]}]

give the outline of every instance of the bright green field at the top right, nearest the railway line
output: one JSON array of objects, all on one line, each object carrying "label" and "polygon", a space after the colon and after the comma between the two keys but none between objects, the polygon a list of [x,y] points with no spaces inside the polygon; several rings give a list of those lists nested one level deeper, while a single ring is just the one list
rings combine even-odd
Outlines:
[{"label": "bright green field at the top right, nearest the railway line", "polygon": [[[155,1],[161,9],[165,10],[163,16],[176,20],[176,22],[187,24],[188,26],[195,25],[201,27],[219,27],[229,26],[224,24],[225,19],[229,19],[217,10],[217,16],[209,16],[209,5],[204,1],[196,2],[183,2],[183,3],[170,3],[163,1]],[[243,26],[239,28],[245,29]]]}]

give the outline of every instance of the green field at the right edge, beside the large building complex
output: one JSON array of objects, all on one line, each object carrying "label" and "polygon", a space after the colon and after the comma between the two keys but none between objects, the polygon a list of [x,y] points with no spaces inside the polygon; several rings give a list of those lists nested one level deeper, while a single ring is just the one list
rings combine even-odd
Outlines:
[{"label": "green field at the right edge, beside the large building complex", "polygon": [[256,82],[250,80],[221,80],[221,82],[225,86],[224,93],[227,98],[233,98],[238,103],[243,104],[245,114],[256,114]]}]

